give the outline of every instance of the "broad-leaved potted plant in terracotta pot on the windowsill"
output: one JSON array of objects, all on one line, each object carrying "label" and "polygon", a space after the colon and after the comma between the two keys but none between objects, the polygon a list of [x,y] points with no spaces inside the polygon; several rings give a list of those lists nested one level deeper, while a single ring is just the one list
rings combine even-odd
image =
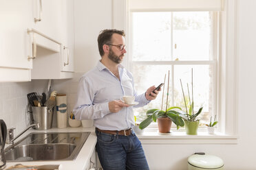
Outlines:
[{"label": "broad-leaved potted plant in terracotta pot on the windowsill", "polygon": [[[164,82],[165,82],[164,76]],[[163,88],[164,89],[164,88]],[[169,91],[169,75],[168,75],[168,86],[167,86],[167,94]],[[162,100],[164,96],[164,90],[162,93]],[[142,121],[139,125],[140,129],[143,130],[145,127],[147,127],[152,121],[156,122],[158,121],[158,130],[161,133],[169,133],[171,130],[171,123],[175,123],[177,125],[177,129],[180,128],[180,126],[184,126],[184,121],[182,120],[182,117],[180,117],[180,112],[175,111],[175,109],[182,110],[180,107],[174,106],[168,108],[168,95],[167,95],[167,106],[165,110],[154,108],[151,110],[147,110],[146,115],[147,118]]]}]

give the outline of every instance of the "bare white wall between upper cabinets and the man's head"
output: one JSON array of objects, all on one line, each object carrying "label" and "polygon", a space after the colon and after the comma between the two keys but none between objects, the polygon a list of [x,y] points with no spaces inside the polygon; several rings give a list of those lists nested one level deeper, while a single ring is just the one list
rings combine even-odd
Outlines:
[{"label": "bare white wall between upper cabinets and the man's head", "polygon": [[75,71],[85,73],[98,60],[98,34],[103,29],[111,29],[111,0],[76,0],[74,2],[75,22]]}]

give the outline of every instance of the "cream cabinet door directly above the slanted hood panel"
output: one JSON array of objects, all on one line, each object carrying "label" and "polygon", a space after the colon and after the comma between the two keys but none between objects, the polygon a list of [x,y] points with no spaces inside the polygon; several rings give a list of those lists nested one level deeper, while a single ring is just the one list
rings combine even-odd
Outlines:
[{"label": "cream cabinet door directly above the slanted hood panel", "polygon": [[33,28],[54,40],[61,41],[62,11],[61,0],[34,0],[32,21],[34,19],[41,19],[41,21],[34,21]]}]

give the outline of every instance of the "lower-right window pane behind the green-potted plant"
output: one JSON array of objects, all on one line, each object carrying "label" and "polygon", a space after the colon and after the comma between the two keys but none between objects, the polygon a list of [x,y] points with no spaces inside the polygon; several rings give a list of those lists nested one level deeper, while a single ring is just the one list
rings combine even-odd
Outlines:
[{"label": "lower-right window pane behind the green-potted plant", "polygon": [[[176,65],[174,66],[174,103],[181,106],[184,111],[184,97],[182,95],[182,88],[186,99],[186,106],[189,105],[189,96],[192,101],[192,86],[191,86],[191,69],[193,68],[193,101],[194,112],[198,111],[203,106],[202,113],[200,114],[200,122],[208,123],[209,117],[213,112],[213,71],[209,65]],[[189,92],[188,92],[189,86]],[[189,108],[188,108],[189,109]],[[205,122],[206,121],[206,122]]]}]

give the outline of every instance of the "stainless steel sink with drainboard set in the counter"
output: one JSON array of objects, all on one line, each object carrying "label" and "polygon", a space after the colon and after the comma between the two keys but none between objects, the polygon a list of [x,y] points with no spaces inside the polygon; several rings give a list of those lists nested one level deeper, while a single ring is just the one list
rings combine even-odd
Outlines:
[{"label": "stainless steel sink with drainboard set in the counter", "polygon": [[74,160],[90,132],[31,133],[5,149],[7,162]]}]

